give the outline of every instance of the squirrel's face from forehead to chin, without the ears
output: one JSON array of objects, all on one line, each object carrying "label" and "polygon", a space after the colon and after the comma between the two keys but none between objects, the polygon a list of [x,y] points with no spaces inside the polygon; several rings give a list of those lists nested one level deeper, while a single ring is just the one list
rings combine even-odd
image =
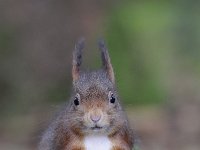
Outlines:
[{"label": "squirrel's face from forehead to chin, without the ears", "polygon": [[81,74],[74,83],[71,109],[84,133],[111,134],[123,125],[116,90],[103,70]]}]

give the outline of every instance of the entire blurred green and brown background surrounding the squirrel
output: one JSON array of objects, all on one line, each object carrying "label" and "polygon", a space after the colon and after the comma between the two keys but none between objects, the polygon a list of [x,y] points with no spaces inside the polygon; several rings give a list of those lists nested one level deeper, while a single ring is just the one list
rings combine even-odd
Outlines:
[{"label": "entire blurred green and brown background surrounding the squirrel", "polygon": [[200,148],[200,1],[0,1],[0,149],[37,149],[71,91],[75,42],[104,37],[143,150]]}]

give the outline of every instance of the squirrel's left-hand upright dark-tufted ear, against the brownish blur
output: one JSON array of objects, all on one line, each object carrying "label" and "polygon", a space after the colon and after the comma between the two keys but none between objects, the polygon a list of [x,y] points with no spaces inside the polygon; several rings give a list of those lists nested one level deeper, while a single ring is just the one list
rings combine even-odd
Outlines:
[{"label": "squirrel's left-hand upright dark-tufted ear, against the brownish blur", "polygon": [[72,61],[72,79],[76,81],[80,76],[80,65],[82,62],[82,50],[84,48],[85,40],[81,38],[75,45]]}]

